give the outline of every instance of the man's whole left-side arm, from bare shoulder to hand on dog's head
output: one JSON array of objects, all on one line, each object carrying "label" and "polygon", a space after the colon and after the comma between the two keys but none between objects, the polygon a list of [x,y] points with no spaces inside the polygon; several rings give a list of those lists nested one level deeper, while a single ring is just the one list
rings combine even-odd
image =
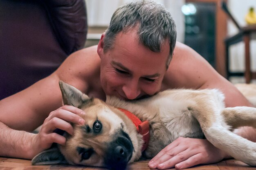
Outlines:
[{"label": "man's whole left-side arm, from bare shoulder to hand on dog's head", "polygon": [[[79,116],[84,114],[82,110],[62,106],[58,81],[61,79],[86,91],[83,77],[87,73],[82,65],[84,60],[89,62],[84,57],[87,52],[72,54],[52,75],[0,101],[0,156],[31,159],[53,142],[65,144],[63,136],[53,133],[56,128],[72,134],[73,128],[67,122],[83,124]],[[29,133],[39,125],[42,128],[38,134]]]}]

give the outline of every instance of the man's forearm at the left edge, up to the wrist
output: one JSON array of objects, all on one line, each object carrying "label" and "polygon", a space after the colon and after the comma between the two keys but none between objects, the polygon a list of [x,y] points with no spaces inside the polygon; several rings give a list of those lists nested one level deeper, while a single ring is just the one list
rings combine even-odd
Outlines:
[{"label": "man's forearm at the left edge, up to the wrist", "polygon": [[0,156],[31,159],[32,142],[36,134],[9,128],[0,122]]}]

